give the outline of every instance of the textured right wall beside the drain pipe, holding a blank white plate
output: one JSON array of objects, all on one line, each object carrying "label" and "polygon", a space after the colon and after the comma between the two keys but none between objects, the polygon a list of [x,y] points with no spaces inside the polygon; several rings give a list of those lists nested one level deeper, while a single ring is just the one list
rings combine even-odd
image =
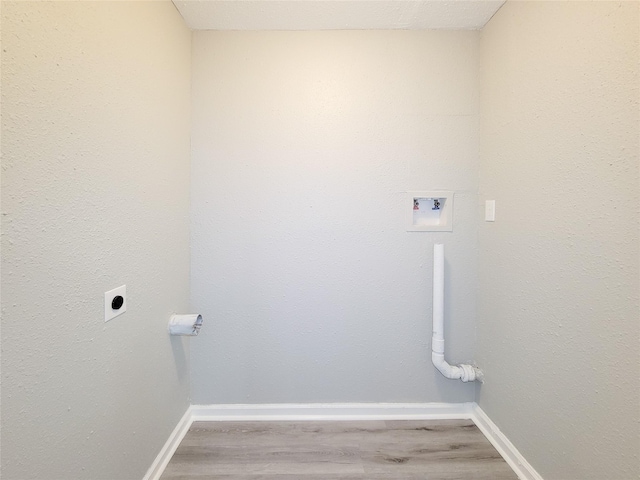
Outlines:
[{"label": "textured right wall beside the drain pipe, holding a blank white plate", "polygon": [[480,406],[545,480],[640,476],[637,2],[482,32]]}]

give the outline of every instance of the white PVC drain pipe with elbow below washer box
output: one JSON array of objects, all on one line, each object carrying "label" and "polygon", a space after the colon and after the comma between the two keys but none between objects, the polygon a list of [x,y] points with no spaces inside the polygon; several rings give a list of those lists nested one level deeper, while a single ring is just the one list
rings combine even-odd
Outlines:
[{"label": "white PVC drain pipe with elbow below washer box", "polygon": [[463,382],[482,381],[482,371],[473,365],[449,365],[444,359],[444,245],[433,246],[433,336],[431,361],[447,378]]}]

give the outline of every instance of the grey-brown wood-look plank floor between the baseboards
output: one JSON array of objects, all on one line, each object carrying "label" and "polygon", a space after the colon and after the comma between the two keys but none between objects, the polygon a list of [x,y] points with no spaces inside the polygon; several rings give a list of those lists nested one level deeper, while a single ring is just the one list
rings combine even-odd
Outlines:
[{"label": "grey-brown wood-look plank floor between the baseboards", "polygon": [[194,422],[162,480],[517,480],[470,420]]}]

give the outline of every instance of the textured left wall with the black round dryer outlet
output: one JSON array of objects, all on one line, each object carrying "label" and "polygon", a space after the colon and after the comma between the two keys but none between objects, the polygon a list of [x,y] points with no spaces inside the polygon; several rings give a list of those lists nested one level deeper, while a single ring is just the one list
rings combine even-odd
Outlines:
[{"label": "textured left wall with the black round dryer outlet", "polygon": [[189,403],[190,32],[170,2],[2,4],[2,478],[140,479]]}]

